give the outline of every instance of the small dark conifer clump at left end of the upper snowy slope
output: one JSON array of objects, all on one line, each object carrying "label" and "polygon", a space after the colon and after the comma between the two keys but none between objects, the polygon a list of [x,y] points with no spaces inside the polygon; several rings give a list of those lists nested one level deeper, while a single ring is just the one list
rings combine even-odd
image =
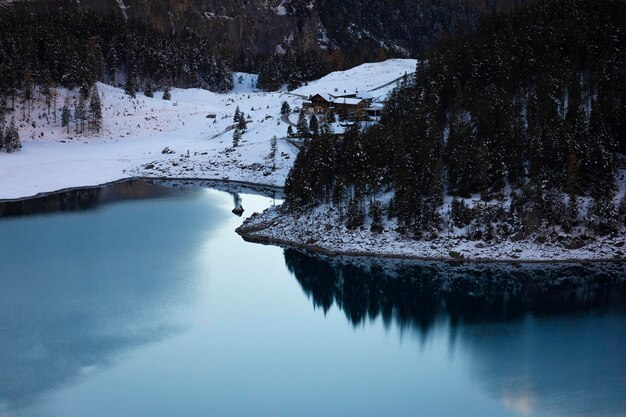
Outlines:
[{"label": "small dark conifer clump at left end of the upper snowy slope", "polygon": [[289,90],[316,80],[329,72],[326,58],[314,50],[271,55],[259,68],[257,87],[265,91],[278,90],[287,84]]}]

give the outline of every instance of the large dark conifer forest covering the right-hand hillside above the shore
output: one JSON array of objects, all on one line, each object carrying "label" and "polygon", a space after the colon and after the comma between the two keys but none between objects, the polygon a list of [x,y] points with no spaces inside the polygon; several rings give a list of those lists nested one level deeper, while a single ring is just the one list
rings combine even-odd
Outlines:
[{"label": "large dark conifer forest covering the right-hand hillside above the shore", "polygon": [[[424,54],[379,125],[311,141],[288,178],[288,206],[332,203],[353,227],[387,215],[418,238],[471,223],[481,238],[570,230],[585,202],[589,225],[615,230],[626,216],[615,203],[625,34],[622,0],[550,0],[483,19]],[[467,207],[476,195],[485,205]]]}]

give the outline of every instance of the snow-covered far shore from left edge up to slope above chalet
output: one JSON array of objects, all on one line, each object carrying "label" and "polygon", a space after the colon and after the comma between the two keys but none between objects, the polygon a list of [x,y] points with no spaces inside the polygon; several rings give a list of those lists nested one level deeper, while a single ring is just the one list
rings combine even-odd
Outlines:
[{"label": "snow-covered far shore from left edge up to slope above chalet", "polygon": [[[414,60],[389,60],[330,74],[312,82],[311,91],[332,92],[336,85],[346,88],[376,88],[391,83],[415,68]],[[16,102],[12,114],[18,121],[22,151],[0,153],[0,200],[34,196],[70,187],[93,186],[114,180],[146,176],[201,178],[243,181],[283,186],[297,149],[286,140],[287,123],[280,107],[302,105],[302,97],[258,91],[256,75],[235,73],[235,88],[228,94],[200,89],[173,89],[172,100],[137,94],[131,99],[121,89],[98,84],[102,95],[104,127],[99,134],[77,134],[74,125],[68,134],[60,126],[61,107],[66,95],[60,90],[57,121],[38,92],[31,116]],[[346,79],[354,84],[347,84]],[[342,81],[343,80],[343,81]],[[19,100],[18,100],[19,101]],[[236,107],[248,119],[248,130],[240,145],[232,147],[233,115]],[[7,117],[10,120],[11,114]],[[208,117],[210,116],[210,117]],[[214,117],[214,118],[211,118]],[[296,121],[291,115],[290,122]],[[276,170],[268,159],[272,137],[278,138]],[[174,154],[162,154],[169,147]]]}]

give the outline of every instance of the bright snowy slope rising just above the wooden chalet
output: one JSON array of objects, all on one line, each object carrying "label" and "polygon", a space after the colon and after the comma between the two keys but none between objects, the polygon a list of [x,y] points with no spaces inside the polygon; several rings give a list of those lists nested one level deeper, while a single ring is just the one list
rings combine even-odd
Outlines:
[{"label": "bright snowy slope rising just above the wooden chalet", "polygon": [[386,96],[404,75],[415,72],[414,59],[390,59],[383,63],[363,64],[347,71],[332,72],[317,81],[293,91],[308,97],[324,92],[333,95],[368,93],[371,97]]}]

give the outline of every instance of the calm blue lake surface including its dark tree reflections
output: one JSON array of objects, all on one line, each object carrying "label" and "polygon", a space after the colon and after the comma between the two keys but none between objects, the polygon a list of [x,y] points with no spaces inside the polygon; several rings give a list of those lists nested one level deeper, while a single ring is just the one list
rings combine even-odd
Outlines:
[{"label": "calm blue lake surface including its dark tree reflections", "polygon": [[623,265],[329,260],[225,192],[90,193],[0,219],[2,417],[626,416]]}]

